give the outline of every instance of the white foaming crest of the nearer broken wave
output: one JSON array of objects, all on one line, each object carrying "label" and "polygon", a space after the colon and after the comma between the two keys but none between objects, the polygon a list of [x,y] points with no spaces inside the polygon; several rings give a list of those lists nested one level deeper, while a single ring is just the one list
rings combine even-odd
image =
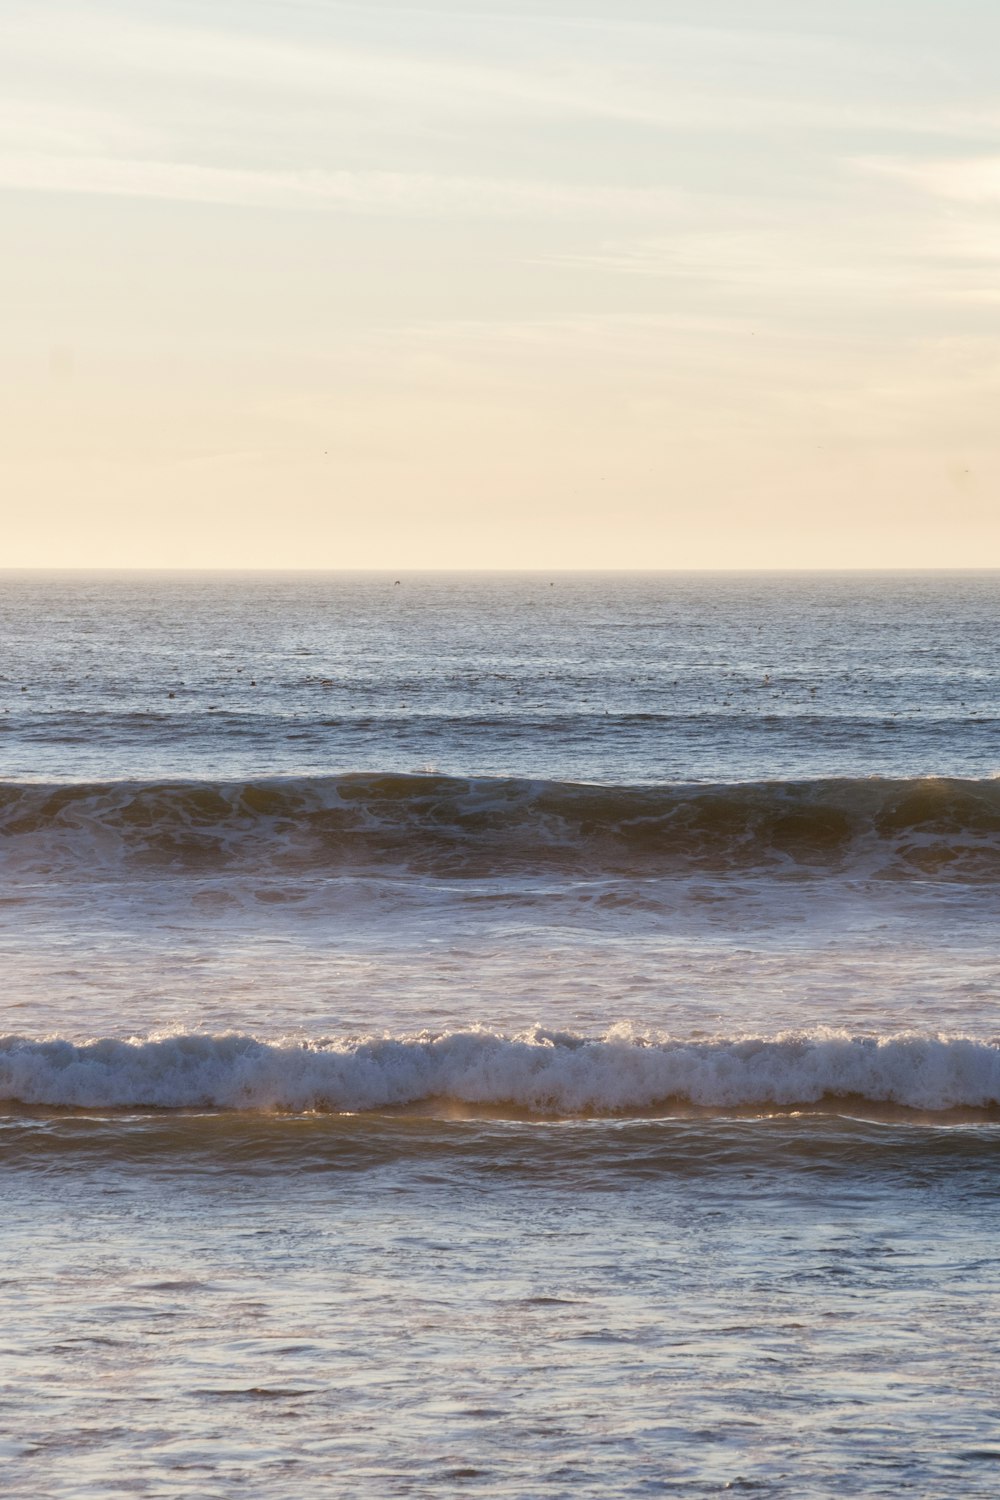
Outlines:
[{"label": "white foaming crest of the nearer broken wave", "polygon": [[66,1108],[357,1113],[432,1101],[559,1116],[816,1106],[1000,1107],[1000,1042],[813,1032],[675,1041],[472,1029],[322,1044],[247,1035],[0,1040],[0,1100]]}]

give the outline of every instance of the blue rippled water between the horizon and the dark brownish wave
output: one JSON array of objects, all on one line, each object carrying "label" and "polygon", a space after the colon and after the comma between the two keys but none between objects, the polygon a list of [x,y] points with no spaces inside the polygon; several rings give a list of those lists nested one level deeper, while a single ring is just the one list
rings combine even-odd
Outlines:
[{"label": "blue rippled water between the horizon and the dark brownish wave", "polygon": [[994,573],[0,580],[7,776],[1000,768]]}]

